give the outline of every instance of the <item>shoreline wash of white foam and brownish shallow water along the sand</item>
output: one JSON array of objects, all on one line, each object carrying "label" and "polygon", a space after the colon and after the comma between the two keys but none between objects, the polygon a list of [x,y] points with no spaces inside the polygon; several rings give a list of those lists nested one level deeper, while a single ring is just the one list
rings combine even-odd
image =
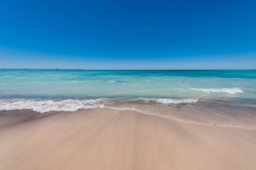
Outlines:
[{"label": "shoreline wash of white foam and brownish shallow water along the sand", "polygon": [[[133,100],[98,99],[1,99],[0,110],[28,109],[36,112],[69,111],[80,109],[111,108],[131,110],[143,114],[201,125],[256,128],[253,104],[236,104],[234,101],[215,101],[204,98],[135,98]],[[218,118],[218,119],[216,119]]]}]

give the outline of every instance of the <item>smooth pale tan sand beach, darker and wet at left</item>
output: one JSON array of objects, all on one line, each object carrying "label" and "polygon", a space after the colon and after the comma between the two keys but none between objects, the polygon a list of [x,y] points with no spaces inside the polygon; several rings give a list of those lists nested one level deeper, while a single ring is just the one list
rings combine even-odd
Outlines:
[{"label": "smooth pale tan sand beach, darker and wet at left", "polygon": [[5,111],[0,169],[256,169],[256,130],[106,108]]}]

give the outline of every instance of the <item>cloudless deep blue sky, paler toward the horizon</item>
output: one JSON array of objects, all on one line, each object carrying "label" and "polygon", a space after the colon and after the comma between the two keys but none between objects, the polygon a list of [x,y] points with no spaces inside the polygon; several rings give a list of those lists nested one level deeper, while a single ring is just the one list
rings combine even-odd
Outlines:
[{"label": "cloudless deep blue sky, paler toward the horizon", "polygon": [[256,1],[0,1],[0,68],[256,69]]}]

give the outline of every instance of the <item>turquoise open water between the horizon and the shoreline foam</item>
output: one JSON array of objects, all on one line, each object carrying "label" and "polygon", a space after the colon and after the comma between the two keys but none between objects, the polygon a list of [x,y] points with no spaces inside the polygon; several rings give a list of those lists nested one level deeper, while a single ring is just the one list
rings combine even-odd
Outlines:
[{"label": "turquoise open water between the horizon and the shoreline foam", "polygon": [[256,71],[0,71],[0,97],[256,99]]}]

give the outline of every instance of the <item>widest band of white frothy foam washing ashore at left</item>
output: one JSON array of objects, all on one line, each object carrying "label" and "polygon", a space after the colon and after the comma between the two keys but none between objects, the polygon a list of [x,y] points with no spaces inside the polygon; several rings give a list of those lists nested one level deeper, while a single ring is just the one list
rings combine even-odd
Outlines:
[{"label": "widest band of white frothy foam washing ashore at left", "polygon": [[0,110],[32,109],[36,112],[50,111],[76,111],[78,109],[93,109],[104,107],[107,99],[89,100],[36,100],[36,99],[2,99],[0,100]]}]

